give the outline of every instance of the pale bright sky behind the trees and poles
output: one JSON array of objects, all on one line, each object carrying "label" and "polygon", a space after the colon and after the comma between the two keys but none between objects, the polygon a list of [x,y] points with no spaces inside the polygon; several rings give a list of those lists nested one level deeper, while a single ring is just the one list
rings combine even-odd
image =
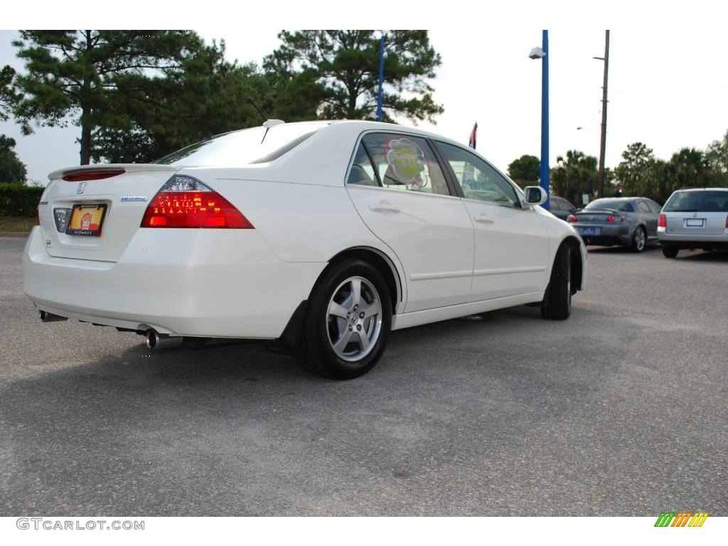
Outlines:
[{"label": "pale bright sky behind the trees and poles", "polygon": [[[720,21],[719,21],[720,23]],[[209,25],[209,26],[205,26]],[[278,28],[220,29],[205,23],[195,30],[207,41],[224,39],[229,60],[261,63],[280,43]],[[339,25],[342,26],[342,25]],[[417,126],[467,143],[478,122],[478,151],[507,170],[523,154],[540,154],[541,70],[531,60],[541,45],[540,28],[486,24],[463,31],[448,24],[430,30],[442,58],[431,81],[445,111],[436,124]],[[22,69],[11,41],[0,31],[0,66]],[[629,143],[641,141],[669,159],[684,146],[705,149],[728,130],[728,29],[634,25],[612,28],[609,51],[609,108],[606,166],[614,167]],[[604,31],[565,25],[549,31],[550,164],[569,149],[598,157]],[[412,124],[402,120],[403,124]],[[582,129],[577,129],[582,127]],[[78,165],[79,127],[39,127],[23,136],[12,122],[0,134],[17,141],[28,178],[45,183],[47,174]]]}]

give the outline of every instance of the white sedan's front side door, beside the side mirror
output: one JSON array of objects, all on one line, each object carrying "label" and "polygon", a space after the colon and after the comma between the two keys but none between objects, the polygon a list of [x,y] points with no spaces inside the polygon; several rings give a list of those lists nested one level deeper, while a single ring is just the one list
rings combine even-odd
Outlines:
[{"label": "white sedan's front side door, beside the side mirror", "polygon": [[543,290],[549,237],[541,215],[521,208],[511,183],[483,159],[459,146],[436,145],[475,227],[470,301]]}]

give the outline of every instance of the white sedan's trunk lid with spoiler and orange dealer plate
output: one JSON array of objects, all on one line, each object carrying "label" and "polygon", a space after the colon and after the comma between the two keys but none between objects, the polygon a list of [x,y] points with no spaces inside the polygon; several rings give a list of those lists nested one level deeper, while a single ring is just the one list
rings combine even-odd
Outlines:
[{"label": "white sedan's trunk lid with spoiler and orange dealer plate", "polygon": [[147,205],[176,170],[173,165],[98,165],[51,173],[39,205],[47,252],[118,261]]}]

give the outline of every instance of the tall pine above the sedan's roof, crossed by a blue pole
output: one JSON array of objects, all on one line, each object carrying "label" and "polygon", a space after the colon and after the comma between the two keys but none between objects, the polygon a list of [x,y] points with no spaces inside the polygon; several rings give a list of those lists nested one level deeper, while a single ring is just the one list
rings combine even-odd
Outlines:
[{"label": "tall pine above the sedan's roof, crossed by a blue pole", "polygon": [[[293,89],[303,84],[317,87],[313,96],[318,98],[315,111],[320,117],[367,119],[376,113],[378,34],[282,31],[278,35],[282,44],[266,57],[264,68],[293,79]],[[413,121],[433,121],[443,107],[432,99],[427,79],[435,77],[441,61],[427,31],[386,31],[384,40],[383,119],[392,121],[393,116],[402,115]]]}]

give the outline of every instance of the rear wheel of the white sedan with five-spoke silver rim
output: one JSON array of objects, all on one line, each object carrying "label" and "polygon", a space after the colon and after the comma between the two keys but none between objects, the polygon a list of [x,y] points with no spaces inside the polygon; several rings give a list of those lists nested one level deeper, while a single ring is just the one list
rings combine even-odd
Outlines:
[{"label": "rear wheel of the white sedan with five-spoke silver rim", "polygon": [[354,379],[376,365],[392,325],[392,298],[379,271],[342,261],[316,283],[295,356],[306,371]]}]

